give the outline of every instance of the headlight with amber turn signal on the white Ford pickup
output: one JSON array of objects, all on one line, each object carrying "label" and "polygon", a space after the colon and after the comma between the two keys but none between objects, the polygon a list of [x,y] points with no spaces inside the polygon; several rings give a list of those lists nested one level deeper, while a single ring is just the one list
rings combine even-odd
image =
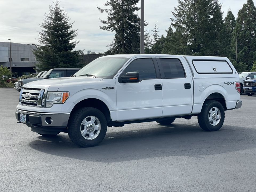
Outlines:
[{"label": "headlight with amber turn signal on the white Ford pickup", "polygon": [[51,108],[54,103],[64,103],[68,97],[69,92],[48,92],[45,107]]}]

